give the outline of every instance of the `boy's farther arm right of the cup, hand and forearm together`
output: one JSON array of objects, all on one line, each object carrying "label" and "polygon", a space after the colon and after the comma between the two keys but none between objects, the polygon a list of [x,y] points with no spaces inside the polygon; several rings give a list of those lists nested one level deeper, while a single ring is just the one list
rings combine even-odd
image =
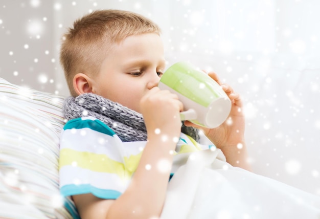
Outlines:
[{"label": "boy's farther arm right of the cup, hand and forearm together", "polygon": [[204,135],[207,136],[217,148],[222,150],[228,163],[236,167],[251,170],[244,140],[245,119],[242,112],[240,95],[234,93],[231,86],[222,84],[217,74],[211,72],[208,75],[222,86],[222,89],[230,98],[232,103],[231,112],[226,121],[217,128],[204,128],[189,121],[186,121],[185,125],[194,126],[203,130]]}]

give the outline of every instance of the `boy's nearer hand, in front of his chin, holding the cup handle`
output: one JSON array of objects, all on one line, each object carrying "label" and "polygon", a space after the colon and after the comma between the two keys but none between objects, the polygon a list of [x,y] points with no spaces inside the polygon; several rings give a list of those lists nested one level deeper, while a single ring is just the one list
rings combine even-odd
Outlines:
[{"label": "boy's nearer hand, in front of his chin, holding the cup handle", "polygon": [[140,101],[148,138],[178,138],[180,136],[180,114],[182,103],[176,94],[153,87]]}]

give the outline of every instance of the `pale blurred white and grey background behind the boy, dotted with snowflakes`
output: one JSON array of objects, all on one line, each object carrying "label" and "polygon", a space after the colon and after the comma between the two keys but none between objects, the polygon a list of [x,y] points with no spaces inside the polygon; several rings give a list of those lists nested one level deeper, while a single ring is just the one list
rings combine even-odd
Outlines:
[{"label": "pale blurred white and grey background behind the boy, dotted with snowflakes", "polygon": [[320,195],[320,1],[2,0],[0,77],[68,96],[60,39],[96,9],[151,18],[168,66],[217,72],[243,97],[254,172]]}]

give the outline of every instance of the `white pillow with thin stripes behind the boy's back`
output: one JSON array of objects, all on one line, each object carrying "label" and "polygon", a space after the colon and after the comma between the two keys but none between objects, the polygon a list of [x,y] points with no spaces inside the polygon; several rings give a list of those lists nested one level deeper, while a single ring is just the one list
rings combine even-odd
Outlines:
[{"label": "white pillow with thin stripes behind the boy's back", "polygon": [[0,218],[72,218],[59,192],[63,100],[0,78]]}]

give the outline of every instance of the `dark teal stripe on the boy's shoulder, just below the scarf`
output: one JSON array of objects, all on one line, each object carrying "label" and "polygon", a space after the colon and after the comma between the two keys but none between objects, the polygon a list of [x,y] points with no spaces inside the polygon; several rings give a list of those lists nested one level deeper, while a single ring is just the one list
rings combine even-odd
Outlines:
[{"label": "dark teal stripe on the boy's shoulder, just below the scarf", "polygon": [[90,128],[99,133],[103,133],[109,136],[113,136],[116,134],[115,132],[113,132],[113,130],[109,126],[107,126],[106,124],[104,124],[98,119],[96,120],[90,120],[90,119],[82,120],[81,118],[72,119],[68,121],[63,127],[64,130],[72,129],[72,128],[76,128],[76,129]]}]

